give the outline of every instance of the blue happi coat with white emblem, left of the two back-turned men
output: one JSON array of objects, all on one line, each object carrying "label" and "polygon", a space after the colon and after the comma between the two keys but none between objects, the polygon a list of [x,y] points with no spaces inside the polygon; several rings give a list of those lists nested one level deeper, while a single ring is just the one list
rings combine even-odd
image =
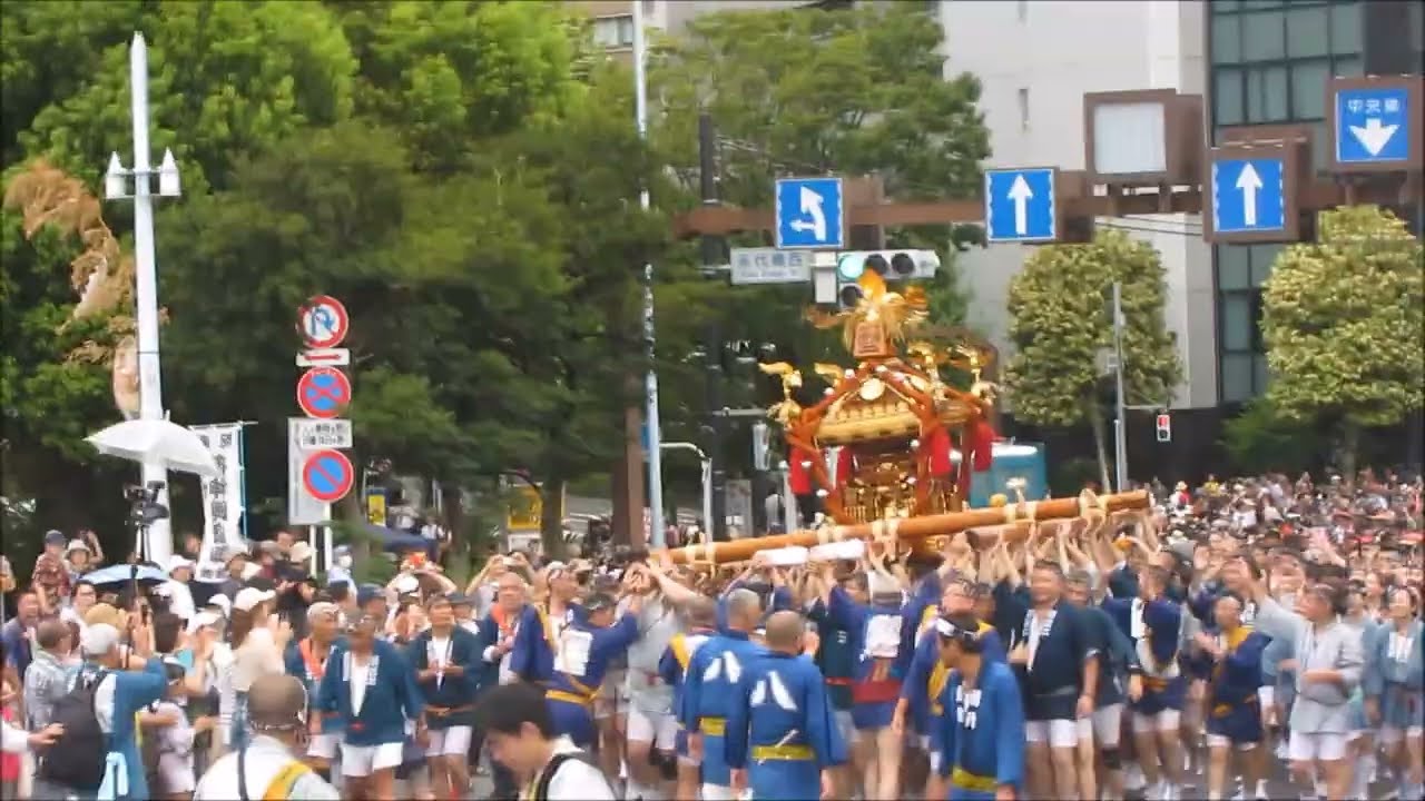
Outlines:
[{"label": "blue happi coat with white emblem, left of the two back-turned men", "polygon": [[730,787],[722,735],[741,690],[742,676],[764,651],[745,631],[710,637],[693,651],[677,707],[678,723],[688,734],[703,735],[703,782]]}]

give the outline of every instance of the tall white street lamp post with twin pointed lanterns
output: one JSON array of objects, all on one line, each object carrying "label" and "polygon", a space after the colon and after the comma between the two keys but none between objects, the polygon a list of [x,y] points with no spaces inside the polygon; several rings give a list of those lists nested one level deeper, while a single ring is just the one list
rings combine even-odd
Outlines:
[{"label": "tall white street lamp post with twin pointed lanterns", "polygon": [[[162,378],[158,362],[158,271],[154,264],[154,197],[151,181],[158,175],[158,194],[178,197],[178,165],[174,154],[164,151],[162,164],[155,171],[148,151],[148,44],[135,33],[128,48],[128,77],[133,86],[131,114],[134,121],[134,168],[124,170],[118,154],[111,154],[104,174],[105,200],[134,201],[134,305],[138,328],[138,416],[145,420],[164,419]],[[134,178],[134,194],[127,194],[127,177]],[[168,469],[161,462],[142,463],[144,486],[162,485],[157,503],[168,505]],[[145,556],[165,564],[172,554],[172,533],[167,519],[148,526]]]}]

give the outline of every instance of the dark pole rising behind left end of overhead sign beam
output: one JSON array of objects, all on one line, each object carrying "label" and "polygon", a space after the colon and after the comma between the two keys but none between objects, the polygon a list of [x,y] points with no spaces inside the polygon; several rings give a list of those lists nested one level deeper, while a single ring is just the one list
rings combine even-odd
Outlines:
[{"label": "dark pole rising behind left end of overhead sign beam", "polygon": [[[712,115],[698,114],[698,184],[703,191],[703,205],[721,205],[717,187],[717,130]],[[722,254],[722,237],[704,235],[698,239],[703,265],[717,267],[727,259]],[[720,274],[707,271],[707,275]],[[727,439],[727,415],[722,415],[722,332],[714,319],[708,324],[703,341],[704,369],[707,371],[705,405],[708,422],[707,455],[712,482],[711,519],[704,520],[708,536],[715,542],[727,539],[727,467],[722,463],[722,440]]]}]

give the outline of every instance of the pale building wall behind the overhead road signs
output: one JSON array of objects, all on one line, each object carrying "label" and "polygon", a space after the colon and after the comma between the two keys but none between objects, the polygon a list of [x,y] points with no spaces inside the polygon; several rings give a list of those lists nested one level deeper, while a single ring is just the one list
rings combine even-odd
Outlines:
[{"label": "pale building wall behind the overhead road signs", "polygon": [[[1201,4],[1171,0],[1062,3],[942,1],[946,76],[983,84],[990,167],[1083,170],[1083,94],[1133,88],[1203,91]],[[1163,257],[1166,318],[1178,341],[1184,381],[1174,408],[1216,405],[1210,254],[1197,215],[1100,219],[1151,244]],[[1010,355],[1009,284],[1029,248],[993,245],[965,254],[960,281],[973,296],[970,325]]]}]

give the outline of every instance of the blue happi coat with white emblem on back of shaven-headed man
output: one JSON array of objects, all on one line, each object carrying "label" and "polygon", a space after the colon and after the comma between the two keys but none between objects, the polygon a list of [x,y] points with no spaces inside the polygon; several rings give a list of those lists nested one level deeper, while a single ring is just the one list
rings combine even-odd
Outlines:
[{"label": "blue happi coat with white emblem on back of shaven-headed man", "polygon": [[821,671],[811,657],[768,651],[742,677],[722,754],[747,768],[752,798],[818,798],[821,771],[846,761]]}]

